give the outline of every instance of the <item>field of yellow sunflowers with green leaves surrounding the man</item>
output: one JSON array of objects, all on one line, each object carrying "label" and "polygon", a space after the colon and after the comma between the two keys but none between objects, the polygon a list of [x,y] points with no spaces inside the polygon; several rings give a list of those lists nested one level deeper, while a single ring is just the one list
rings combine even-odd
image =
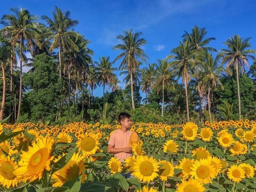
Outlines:
[{"label": "field of yellow sunflowers with green leaves surrounding the man", "polygon": [[[256,123],[133,123],[132,157],[107,152],[120,125],[0,124],[0,191],[256,190]],[[130,175],[130,177],[127,177]]]}]

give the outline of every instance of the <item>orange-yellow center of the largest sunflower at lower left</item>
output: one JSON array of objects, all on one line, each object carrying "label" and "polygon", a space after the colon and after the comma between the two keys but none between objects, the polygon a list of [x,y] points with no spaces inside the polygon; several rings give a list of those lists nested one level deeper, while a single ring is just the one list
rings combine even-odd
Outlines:
[{"label": "orange-yellow center of the largest sunflower at lower left", "polygon": [[28,172],[37,173],[44,169],[46,162],[48,161],[48,154],[48,149],[46,147],[35,152],[29,159],[29,163],[27,165]]}]

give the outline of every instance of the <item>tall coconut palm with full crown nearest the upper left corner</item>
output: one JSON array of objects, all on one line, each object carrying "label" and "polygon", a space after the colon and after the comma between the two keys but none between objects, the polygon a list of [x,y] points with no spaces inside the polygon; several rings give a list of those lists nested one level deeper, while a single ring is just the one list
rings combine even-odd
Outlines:
[{"label": "tall coconut palm with full crown nearest the upper left corner", "polygon": [[26,9],[20,8],[11,9],[13,15],[3,15],[1,18],[1,23],[4,25],[1,30],[6,37],[10,38],[10,42],[13,46],[19,49],[18,54],[20,57],[20,88],[19,88],[19,107],[18,107],[18,116],[20,115],[21,107],[21,97],[22,97],[22,61],[24,58],[23,50],[25,49],[25,44],[27,45],[30,52],[33,54],[33,41],[36,32],[36,23],[38,17],[31,15],[30,12]]}]

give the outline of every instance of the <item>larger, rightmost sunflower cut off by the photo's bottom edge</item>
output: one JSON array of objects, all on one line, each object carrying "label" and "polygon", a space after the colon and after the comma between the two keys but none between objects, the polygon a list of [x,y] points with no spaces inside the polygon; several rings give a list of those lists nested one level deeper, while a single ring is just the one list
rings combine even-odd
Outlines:
[{"label": "larger, rightmost sunflower cut off by the photo's bottom edge", "polygon": [[204,192],[206,188],[204,188],[203,184],[198,180],[189,178],[188,181],[181,180],[180,184],[177,184],[177,192]]}]

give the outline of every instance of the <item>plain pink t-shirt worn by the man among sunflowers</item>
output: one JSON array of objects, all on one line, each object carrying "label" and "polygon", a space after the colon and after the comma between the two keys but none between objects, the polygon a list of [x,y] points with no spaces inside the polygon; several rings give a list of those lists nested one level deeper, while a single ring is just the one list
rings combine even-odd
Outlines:
[{"label": "plain pink t-shirt worn by the man among sunflowers", "polygon": [[[128,147],[128,143],[130,140],[130,137],[132,135],[132,131],[127,130],[127,132],[120,131],[120,129],[117,129],[112,133],[112,135],[109,138],[109,145],[113,145],[114,148],[125,148]],[[114,154],[116,158],[120,159],[121,162],[124,162],[124,159],[131,157],[131,153],[116,153]]]}]

